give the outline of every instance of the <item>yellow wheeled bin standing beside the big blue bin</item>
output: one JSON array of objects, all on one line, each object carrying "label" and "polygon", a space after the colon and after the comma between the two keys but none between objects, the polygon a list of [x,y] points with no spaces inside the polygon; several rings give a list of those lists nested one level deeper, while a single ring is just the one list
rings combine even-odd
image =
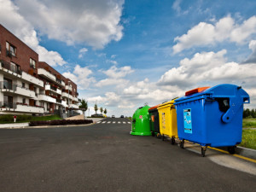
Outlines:
[{"label": "yellow wheeled bin standing beside the big blue bin", "polygon": [[170,102],[164,102],[157,108],[159,113],[160,135],[163,140],[165,137],[172,138],[172,144],[175,143],[175,138],[177,138],[177,113],[173,104],[175,99]]}]

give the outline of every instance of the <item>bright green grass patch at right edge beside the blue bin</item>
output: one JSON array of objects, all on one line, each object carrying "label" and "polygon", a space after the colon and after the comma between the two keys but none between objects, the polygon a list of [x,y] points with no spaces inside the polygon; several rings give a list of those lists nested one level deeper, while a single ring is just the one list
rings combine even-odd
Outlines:
[{"label": "bright green grass patch at right edge beside the blue bin", "polygon": [[243,130],[240,146],[244,148],[256,149],[256,130]]}]

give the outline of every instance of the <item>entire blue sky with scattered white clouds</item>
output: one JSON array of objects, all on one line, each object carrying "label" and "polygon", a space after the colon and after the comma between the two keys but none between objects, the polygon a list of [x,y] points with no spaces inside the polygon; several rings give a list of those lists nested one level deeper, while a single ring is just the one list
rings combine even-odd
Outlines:
[{"label": "entire blue sky with scattered white clouds", "polygon": [[256,108],[253,0],[0,0],[0,10],[3,26],[108,115],[223,83]]}]

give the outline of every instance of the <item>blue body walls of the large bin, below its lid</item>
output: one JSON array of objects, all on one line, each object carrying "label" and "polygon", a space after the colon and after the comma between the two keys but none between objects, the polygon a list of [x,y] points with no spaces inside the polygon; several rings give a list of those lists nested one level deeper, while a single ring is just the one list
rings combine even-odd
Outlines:
[{"label": "blue body walls of the large bin, below its lid", "polygon": [[[192,131],[184,130],[184,110],[191,110]],[[199,143],[202,146],[233,146],[241,143],[243,105],[230,123],[221,119],[224,112],[218,108],[218,102],[206,102],[204,98],[177,104],[177,133],[180,139]]]}]

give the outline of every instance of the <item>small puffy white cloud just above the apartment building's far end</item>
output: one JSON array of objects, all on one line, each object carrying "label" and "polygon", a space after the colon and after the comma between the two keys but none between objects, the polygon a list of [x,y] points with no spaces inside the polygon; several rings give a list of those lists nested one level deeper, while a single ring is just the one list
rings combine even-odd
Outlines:
[{"label": "small puffy white cloud just above the apartment building's far end", "polygon": [[87,89],[91,83],[96,82],[93,77],[90,77],[92,71],[88,67],[80,67],[76,65],[73,73],[67,72],[62,75],[68,79],[72,79],[75,84],[79,85],[79,90]]}]

